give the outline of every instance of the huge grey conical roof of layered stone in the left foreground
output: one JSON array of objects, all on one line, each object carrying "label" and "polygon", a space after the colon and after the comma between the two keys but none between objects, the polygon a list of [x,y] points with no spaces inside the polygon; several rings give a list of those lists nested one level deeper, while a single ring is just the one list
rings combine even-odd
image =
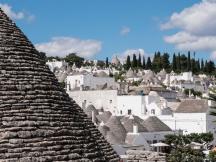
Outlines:
[{"label": "huge grey conical roof of layered stone in the left foreground", "polygon": [[0,161],[118,161],[0,9]]}]

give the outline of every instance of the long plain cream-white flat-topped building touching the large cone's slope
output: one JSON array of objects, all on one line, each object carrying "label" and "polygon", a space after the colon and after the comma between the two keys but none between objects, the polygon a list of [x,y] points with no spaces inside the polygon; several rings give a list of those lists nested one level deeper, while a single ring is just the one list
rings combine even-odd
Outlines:
[{"label": "long plain cream-white flat-topped building touching the large cone's slope", "polygon": [[96,109],[103,108],[112,114],[117,112],[117,90],[67,91],[67,93],[83,109],[88,105],[94,105]]}]

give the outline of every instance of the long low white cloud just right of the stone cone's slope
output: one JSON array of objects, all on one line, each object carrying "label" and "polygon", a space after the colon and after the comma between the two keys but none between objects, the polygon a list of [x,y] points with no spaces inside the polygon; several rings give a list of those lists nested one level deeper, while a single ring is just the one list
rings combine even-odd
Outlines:
[{"label": "long low white cloud just right of the stone cone's slope", "polygon": [[37,50],[49,56],[65,56],[69,53],[90,58],[101,51],[102,43],[97,40],[81,40],[72,37],[53,37],[49,42],[35,44]]}]

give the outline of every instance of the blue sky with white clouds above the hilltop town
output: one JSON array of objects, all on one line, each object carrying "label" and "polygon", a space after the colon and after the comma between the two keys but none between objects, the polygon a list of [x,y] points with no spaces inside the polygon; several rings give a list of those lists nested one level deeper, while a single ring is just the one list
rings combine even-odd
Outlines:
[{"label": "blue sky with white clouds above the hilltop town", "polygon": [[[209,10],[210,5],[205,3],[212,6],[215,1],[1,0],[0,6],[6,8],[36,47],[48,55],[79,52],[86,58],[105,59],[137,51],[151,55],[158,50],[169,53],[191,50],[196,51],[198,57],[213,59],[216,33],[203,34],[204,29],[193,32],[188,27],[197,28],[197,24],[207,21],[205,16],[201,22],[195,21],[196,16],[199,19],[200,14],[206,14],[199,10]],[[207,17],[214,16],[213,9]],[[177,16],[173,16],[174,13]],[[189,16],[194,13],[197,13],[193,18],[195,22],[188,25]],[[200,25],[200,28],[207,27]],[[205,46],[200,47],[200,42]]]}]

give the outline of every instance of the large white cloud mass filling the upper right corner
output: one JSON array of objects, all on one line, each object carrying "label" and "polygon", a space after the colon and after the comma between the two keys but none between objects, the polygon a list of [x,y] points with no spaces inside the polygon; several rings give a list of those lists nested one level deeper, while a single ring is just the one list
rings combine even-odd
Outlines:
[{"label": "large white cloud mass filling the upper right corner", "polygon": [[[161,29],[179,29],[165,36],[179,50],[216,51],[216,0],[203,0],[179,13],[173,13]],[[216,57],[215,57],[216,58]]]}]

